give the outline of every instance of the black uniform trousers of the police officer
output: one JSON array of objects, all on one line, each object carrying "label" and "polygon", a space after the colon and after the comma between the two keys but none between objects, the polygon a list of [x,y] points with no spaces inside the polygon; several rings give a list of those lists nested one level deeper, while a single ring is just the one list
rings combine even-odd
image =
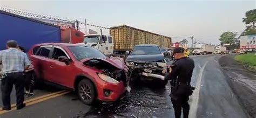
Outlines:
[{"label": "black uniform trousers of the police officer", "polygon": [[184,118],[188,117],[188,113],[190,112],[190,105],[187,102],[188,99],[189,99],[188,95],[180,95],[180,96],[177,96],[176,99],[171,99],[176,118],[180,118],[181,108],[183,109],[183,117]]}]

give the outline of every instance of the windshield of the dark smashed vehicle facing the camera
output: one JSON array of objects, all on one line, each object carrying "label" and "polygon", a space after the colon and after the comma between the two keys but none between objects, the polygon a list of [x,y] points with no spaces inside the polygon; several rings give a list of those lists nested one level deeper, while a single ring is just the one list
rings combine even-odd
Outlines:
[{"label": "windshield of the dark smashed vehicle facing the camera", "polygon": [[131,55],[161,54],[157,46],[135,46]]}]

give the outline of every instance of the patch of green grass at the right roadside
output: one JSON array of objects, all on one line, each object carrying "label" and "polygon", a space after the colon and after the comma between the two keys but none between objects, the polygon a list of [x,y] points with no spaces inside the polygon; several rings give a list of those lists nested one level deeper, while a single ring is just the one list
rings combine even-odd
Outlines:
[{"label": "patch of green grass at the right roadside", "polygon": [[256,71],[256,55],[254,53],[236,55],[234,59]]}]

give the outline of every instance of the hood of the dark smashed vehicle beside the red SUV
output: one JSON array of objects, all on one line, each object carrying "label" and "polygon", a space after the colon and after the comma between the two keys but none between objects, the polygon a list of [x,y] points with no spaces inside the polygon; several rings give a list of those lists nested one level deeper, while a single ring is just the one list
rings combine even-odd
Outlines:
[{"label": "hood of the dark smashed vehicle beside the red SUV", "polygon": [[126,58],[126,61],[133,61],[136,63],[149,63],[154,61],[164,60],[163,54],[154,54],[154,55],[129,55]]}]

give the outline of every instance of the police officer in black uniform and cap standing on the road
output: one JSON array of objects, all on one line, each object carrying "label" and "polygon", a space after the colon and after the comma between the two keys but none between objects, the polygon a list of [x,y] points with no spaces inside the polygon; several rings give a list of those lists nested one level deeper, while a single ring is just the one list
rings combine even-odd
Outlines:
[{"label": "police officer in black uniform and cap standing on the road", "polygon": [[169,68],[167,78],[171,83],[171,101],[173,104],[175,117],[181,116],[181,108],[183,109],[184,118],[188,117],[190,105],[188,104],[188,96],[192,94],[190,82],[194,69],[194,61],[184,55],[184,48],[177,47],[173,50],[174,61]]}]

